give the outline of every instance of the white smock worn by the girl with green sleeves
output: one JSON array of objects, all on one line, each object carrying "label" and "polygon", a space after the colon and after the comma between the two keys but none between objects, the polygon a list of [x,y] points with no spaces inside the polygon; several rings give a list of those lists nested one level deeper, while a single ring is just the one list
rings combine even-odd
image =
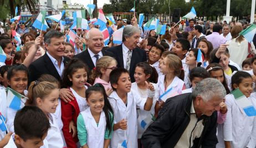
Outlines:
[{"label": "white smock worn by the girl with green sleeves", "polygon": [[101,111],[100,121],[97,123],[91,114],[90,108],[80,113],[85,122],[85,128],[87,131],[87,145],[88,147],[104,147],[104,138],[106,130],[106,118],[105,113]]}]

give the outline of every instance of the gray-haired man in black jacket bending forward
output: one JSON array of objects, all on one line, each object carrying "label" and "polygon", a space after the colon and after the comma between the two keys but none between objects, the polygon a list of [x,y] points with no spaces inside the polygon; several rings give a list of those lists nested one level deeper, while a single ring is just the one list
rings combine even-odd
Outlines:
[{"label": "gray-haired man in black jacket bending forward", "polygon": [[192,93],[167,99],[142,135],[144,147],[216,147],[217,110],[226,96],[222,83],[206,78]]}]

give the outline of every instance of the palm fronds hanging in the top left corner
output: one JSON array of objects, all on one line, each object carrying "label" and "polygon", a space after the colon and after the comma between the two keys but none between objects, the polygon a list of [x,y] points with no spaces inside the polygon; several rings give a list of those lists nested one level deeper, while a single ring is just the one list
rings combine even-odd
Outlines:
[{"label": "palm fronds hanging in the top left corner", "polygon": [[18,7],[18,10],[24,9],[24,8],[28,8],[30,13],[35,12],[35,6],[39,3],[39,0],[10,0],[10,1],[6,1],[6,0],[0,0],[0,3],[3,4],[7,4],[7,6],[9,6],[9,10],[10,13],[12,15],[12,17],[14,17],[15,15],[15,8],[16,6]]}]

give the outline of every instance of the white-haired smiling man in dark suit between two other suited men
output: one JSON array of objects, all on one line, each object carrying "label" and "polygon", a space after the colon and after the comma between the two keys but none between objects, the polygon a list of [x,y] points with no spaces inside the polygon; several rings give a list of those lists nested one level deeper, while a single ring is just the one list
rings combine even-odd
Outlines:
[{"label": "white-haired smiling man in dark suit between two other suited men", "polygon": [[114,57],[114,54],[111,52],[102,50],[104,47],[104,39],[103,34],[99,29],[90,29],[85,38],[88,50],[75,55],[75,57],[85,62],[85,64],[88,65],[90,71],[93,70],[93,68],[96,66],[96,61],[98,61],[101,57]]}]

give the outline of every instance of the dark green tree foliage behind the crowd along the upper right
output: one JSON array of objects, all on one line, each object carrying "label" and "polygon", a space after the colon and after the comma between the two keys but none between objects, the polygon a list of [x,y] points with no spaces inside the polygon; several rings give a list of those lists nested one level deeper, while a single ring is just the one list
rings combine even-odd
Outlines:
[{"label": "dark green tree foliage behind the crowd along the upper right", "polygon": [[[196,9],[197,17],[216,18],[226,15],[227,0],[136,0],[136,12],[145,14],[169,14],[175,8],[181,8],[181,17],[190,12],[192,6]],[[250,15],[252,0],[232,0],[231,15],[242,17]],[[104,13],[130,12],[134,7],[134,0],[110,0],[110,4],[104,4]]]}]

